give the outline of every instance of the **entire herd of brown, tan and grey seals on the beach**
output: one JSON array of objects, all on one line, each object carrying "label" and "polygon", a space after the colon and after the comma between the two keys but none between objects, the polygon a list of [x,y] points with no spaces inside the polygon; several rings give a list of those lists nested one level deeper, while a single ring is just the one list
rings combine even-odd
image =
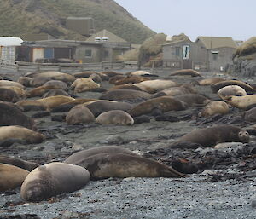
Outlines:
[{"label": "entire herd of brown, tan and grey seals on the beach", "polygon": [[[186,77],[181,84],[175,78]],[[173,78],[173,79],[171,79]],[[193,79],[192,79],[193,78]],[[195,78],[197,78],[195,80]],[[109,88],[102,87],[108,81]],[[197,91],[209,86],[215,99]],[[101,93],[98,99],[84,98],[87,92]],[[212,118],[236,107],[247,121],[256,121],[256,89],[253,84],[225,78],[203,78],[195,70],[172,72],[158,78],[150,72],[32,72],[12,81],[0,80],[0,147],[14,143],[45,141],[37,122],[55,112],[66,124],[137,125],[150,121],[170,121],[166,112],[198,108],[198,117]],[[161,118],[160,118],[161,117]],[[145,118],[148,118],[145,119]],[[250,140],[247,130],[235,125],[215,125],[192,130],[172,142],[171,148],[214,147],[222,142]],[[37,164],[0,155],[0,192],[20,188],[26,201],[38,202],[84,187],[90,180],[109,177],[186,177],[186,171],[145,158],[118,146],[94,147],[73,153],[63,162]]]}]

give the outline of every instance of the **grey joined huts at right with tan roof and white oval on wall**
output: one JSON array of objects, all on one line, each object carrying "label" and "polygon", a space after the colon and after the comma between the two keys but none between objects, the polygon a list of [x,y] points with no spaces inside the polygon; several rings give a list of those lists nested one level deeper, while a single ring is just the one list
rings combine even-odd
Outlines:
[{"label": "grey joined huts at right with tan roof and white oval on wall", "polygon": [[231,37],[197,37],[163,45],[163,66],[173,69],[224,71],[237,44]]}]

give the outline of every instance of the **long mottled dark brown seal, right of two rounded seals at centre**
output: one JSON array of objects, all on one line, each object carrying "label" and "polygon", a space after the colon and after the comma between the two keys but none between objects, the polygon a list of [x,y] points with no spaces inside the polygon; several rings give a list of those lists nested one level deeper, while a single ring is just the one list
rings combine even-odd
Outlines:
[{"label": "long mottled dark brown seal, right of two rounded seals at centre", "polygon": [[161,112],[168,112],[172,110],[184,110],[188,106],[183,101],[177,101],[170,96],[160,96],[137,104],[137,106],[129,111],[129,114],[132,117],[138,117],[152,112],[156,107],[158,107]]}]

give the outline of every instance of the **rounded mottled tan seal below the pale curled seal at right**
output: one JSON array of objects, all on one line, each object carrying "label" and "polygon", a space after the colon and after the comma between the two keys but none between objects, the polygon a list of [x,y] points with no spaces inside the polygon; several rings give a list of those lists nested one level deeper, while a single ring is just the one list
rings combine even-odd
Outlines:
[{"label": "rounded mottled tan seal below the pale curled seal at right", "polygon": [[227,114],[230,111],[230,107],[224,101],[211,101],[201,111],[202,117],[212,117],[217,114]]}]

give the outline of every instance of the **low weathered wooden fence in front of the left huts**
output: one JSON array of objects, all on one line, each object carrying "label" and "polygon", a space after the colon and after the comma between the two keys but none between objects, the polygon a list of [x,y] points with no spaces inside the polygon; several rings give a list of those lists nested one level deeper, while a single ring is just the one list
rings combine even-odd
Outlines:
[{"label": "low weathered wooden fence in front of the left huts", "polygon": [[24,61],[6,61],[0,59],[0,68],[17,72],[79,72],[96,70],[137,69],[137,61],[102,61],[100,63],[36,63]]}]

